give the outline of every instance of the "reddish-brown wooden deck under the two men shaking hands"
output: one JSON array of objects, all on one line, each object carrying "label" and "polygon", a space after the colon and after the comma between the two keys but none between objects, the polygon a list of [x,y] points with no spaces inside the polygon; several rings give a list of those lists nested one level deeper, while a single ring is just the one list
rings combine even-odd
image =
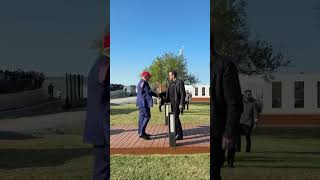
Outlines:
[{"label": "reddish-brown wooden deck under the two men shaking hands", "polygon": [[189,154],[209,153],[210,126],[183,124],[184,139],[176,142],[176,147],[169,147],[168,127],[148,125],[147,133],[151,140],[139,138],[137,126],[112,126],[111,154]]}]

